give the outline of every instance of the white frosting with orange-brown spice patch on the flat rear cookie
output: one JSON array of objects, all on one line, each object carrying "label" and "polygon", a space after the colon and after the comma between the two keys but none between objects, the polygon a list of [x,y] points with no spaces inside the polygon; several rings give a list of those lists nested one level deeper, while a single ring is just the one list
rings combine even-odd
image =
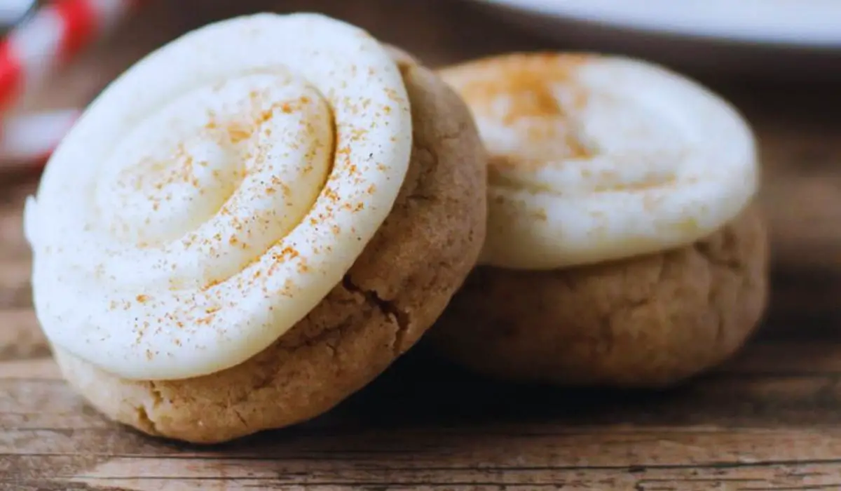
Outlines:
[{"label": "white frosting with orange-brown spice patch on the flat rear cookie", "polygon": [[472,109],[491,156],[484,264],[546,270],[687,245],[757,190],[743,118],[664,68],[515,54],[442,77]]}]

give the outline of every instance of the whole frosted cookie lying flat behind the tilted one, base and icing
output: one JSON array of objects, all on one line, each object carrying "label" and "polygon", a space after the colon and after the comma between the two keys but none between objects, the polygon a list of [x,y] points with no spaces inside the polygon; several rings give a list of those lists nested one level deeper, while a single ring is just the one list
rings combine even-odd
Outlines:
[{"label": "whole frosted cookie lying flat behind the tilted one, base and icing", "polygon": [[659,387],[725,360],[767,290],[752,131],[643,61],[512,54],[441,72],[489,152],[479,266],[431,332],[490,376]]}]

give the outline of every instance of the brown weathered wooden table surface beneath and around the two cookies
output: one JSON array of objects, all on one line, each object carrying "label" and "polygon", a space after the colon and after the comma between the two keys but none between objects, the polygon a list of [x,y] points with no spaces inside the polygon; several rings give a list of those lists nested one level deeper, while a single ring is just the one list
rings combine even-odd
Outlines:
[{"label": "brown weathered wooden table surface beneath and around the two cookies", "polygon": [[[323,9],[433,65],[553,47],[444,0],[243,3],[152,3],[32,104],[84,104],[151,47],[244,8]],[[415,350],[294,429],[214,448],[146,438],[98,416],[57,374],[30,310],[20,227],[37,176],[0,174],[0,488],[841,489],[838,90],[711,83],[761,140],[774,291],[743,354],[668,392],[506,387]]]}]

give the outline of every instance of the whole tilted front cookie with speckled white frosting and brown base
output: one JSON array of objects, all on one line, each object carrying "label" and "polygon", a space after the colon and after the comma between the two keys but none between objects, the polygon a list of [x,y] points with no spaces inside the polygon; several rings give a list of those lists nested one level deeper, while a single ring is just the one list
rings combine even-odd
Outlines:
[{"label": "whole tilted front cookie with speckled white frosting and brown base", "polygon": [[317,14],[147,56],[48,163],[25,228],[67,381],[151,435],[310,419],[440,315],[479,256],[486,162],[461,99]]}]

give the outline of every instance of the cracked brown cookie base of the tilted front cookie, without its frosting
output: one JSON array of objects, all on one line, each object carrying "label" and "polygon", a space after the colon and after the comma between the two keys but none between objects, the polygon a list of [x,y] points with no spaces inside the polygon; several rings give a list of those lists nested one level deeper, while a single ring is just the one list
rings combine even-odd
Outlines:
[{"label": "cracked brown cookie base of the tilted front cookie, without its frosting", "polygon": [[415,344],[479,255],[486,163],[461,99],[398,59],[412,104],[410,170],[342,284],[262,353],[209,376],[128,381],[56,349],[66,379],[94,407],[151,435],[231,440],[324,413]]}]

